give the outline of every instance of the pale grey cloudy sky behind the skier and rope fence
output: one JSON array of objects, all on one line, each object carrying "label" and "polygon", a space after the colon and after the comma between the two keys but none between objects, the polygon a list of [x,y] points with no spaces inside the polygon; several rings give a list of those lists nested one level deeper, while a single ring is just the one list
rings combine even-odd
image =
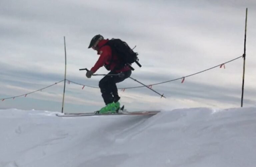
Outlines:
[{"label": "pale grey cloudy sky behind the skier and rope fence", "polygon": [[[244,52],[248,8],[244,106],[256,105],[256,2],[245,1],[0,1],[0,99],[19,96],[64,79],[98,87],[101,76],[86,78],[80,68],[98,59],[88,49],[93,36],[119,38],[139,53],[142,67],[131,77],[150,85],[222,64]],[[98,74],[108,71],[102,67]],[[152,88],[119,90],[128,110],[187,107],[240,107],[243,59]],[[118,88],[141,86],[126,79]],[[64,83],[0,101],[0,109],[61,111]],[[66,84],[64,112],[104,106],[98,88]]]}]

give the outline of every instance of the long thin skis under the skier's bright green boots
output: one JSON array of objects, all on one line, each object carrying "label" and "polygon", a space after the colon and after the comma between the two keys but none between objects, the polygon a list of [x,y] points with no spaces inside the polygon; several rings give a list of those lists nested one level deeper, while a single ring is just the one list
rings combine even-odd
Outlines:
[{"label": "long thin skis under the skier's bright green boots", "polygon": [[120,111],[118,113],[106,113],[106,114],[96,114],[96,113],[64,113],[56,114],[58,117],[82,117],[82,116],[116,116],[116,115],[156,115],[160,111]]}]

